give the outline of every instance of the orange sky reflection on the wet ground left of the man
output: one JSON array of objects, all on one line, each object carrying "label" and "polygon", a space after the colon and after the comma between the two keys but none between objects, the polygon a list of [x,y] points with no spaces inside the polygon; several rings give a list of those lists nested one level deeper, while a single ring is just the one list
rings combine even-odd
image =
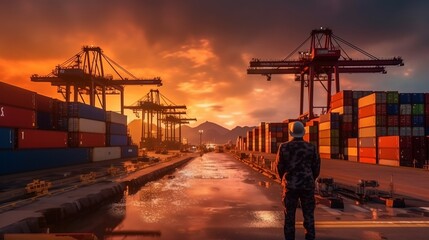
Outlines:
[{"label": "orange sky reflection on the wet ground left of the man", "polygon": [[267,189],[258,181],[249,182],[248,173],[237,170],[237,164],[225,155],[207,154],[178,170],[172,179],[146,184],[126,197],[126,217],[116,230],[186,233],[216,227],[281,227],[281,208],[270,209],[278,203],[261,193]]}]

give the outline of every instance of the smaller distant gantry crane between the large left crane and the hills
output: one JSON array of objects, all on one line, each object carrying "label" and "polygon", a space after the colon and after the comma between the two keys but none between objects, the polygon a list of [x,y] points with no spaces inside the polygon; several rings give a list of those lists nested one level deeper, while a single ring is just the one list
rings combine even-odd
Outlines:
[{"label": "smaller distant gantry crane between the large left crane and the hills", "polygon": [[[131,106],[125,106],[126,109],[131,109],[137,115],[142,117],[142,135],[141,135],[141,147],[153,149],[157,145],[161,145],[162,142],[162,126],[164,123],[165,135],[164,140],[166,142],[175,141],[175,124],[179,123],[179,135],[181,135],[181,125],[184,122],[177,122],[176,115],[186,114],[186,112],[178,112],[178,109],[186,109],[185,105],[175,105],[165,96],[163,96],[159,90],[150,90],[148,94],[143,96],[137,102]],[[156,131],[153,130],[153,118],[156,121]],[[145,123],[146,121],[146,123]],[[154,133],[156,132],[156,137]],[[179,141],[180,143],[180,141]]]}]

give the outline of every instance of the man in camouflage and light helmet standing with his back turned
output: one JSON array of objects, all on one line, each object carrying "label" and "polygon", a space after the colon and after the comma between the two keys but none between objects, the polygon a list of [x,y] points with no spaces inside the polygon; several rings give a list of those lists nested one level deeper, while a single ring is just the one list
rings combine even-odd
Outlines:
[{"label": "man in camouflage and light helmet standing with his back turned", "polygon": [[282,143],[276,157],[276,167],[282,181],[285,239],[295,239],[295,212],[301,201],[304,216],[305,239],[315,239],[314,198],[315,180],[320,173],[320,157],[316,147],[305,142],[304,125],[297,121],[289,124],[291,141]]}]

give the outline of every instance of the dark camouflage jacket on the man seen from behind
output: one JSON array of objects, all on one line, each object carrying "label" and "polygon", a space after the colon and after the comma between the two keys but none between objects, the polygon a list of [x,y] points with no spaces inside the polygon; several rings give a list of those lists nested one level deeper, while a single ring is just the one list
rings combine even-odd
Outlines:
[{"label": "dark camouflage jacket on the man seen from behind", "polygon": [[320,174],[320,157],[313,144],[294,138],[280,145],[276,166],[284,188],[314,189]]}]

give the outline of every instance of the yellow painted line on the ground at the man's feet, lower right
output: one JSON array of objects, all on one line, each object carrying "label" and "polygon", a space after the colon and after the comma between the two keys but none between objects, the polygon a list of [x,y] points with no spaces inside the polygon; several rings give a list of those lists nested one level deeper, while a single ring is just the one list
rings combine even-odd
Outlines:
[{"label": "yellow painted line on the ground at the man's feet, lower right", "polygon": [[[302,228],[302,222],[297,222]],[[316,221],[316,228],[427,228],[429,221]]]}]

